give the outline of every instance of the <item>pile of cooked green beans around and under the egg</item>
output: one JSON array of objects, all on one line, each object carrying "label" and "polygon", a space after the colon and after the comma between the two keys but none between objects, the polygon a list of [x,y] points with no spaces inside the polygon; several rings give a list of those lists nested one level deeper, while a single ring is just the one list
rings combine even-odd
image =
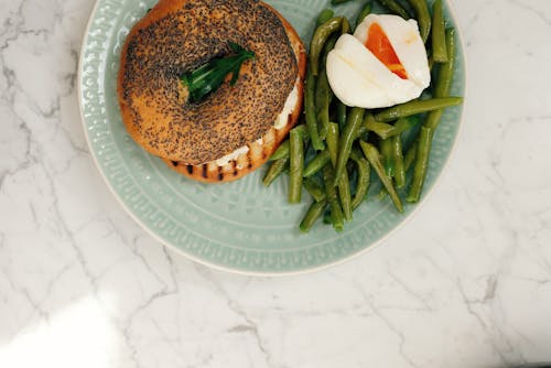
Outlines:
[{"label": "pile of cooked green beans around and under the egg", "polygon": [[[354,0],[331,3],[349,1]],[[303,232],[310,231],[320,218],[343,231],[354,212],[367,202],[371,171],[380,182],[379,197],[388,195],[398,212],[403,212],[401,195],[406,203],[419,202],[442,113],[463,102],[463,98],[450,96],[455,32],[445,28],[442,0],[434,2],[432,14],[426,0],[407,0],[406,6],[397,0],[376,1],[390,13],[418,21],[434,67],[432,87],[423,98],[386,109],[345,106],[331,90],[325,63],[338,36],[353,30],[349,21],[335,15],[332,9],[318,14],[310,43],[304,122],[291,130],[289,139],[270,158],[272,163],[263,177],[269,186],[288,172],[289,203],[301,203],[303,190],[310,194],[312,203],[299,226]],[[371,9],[372,1],[368,0],[354,24],[359,24]]]}]

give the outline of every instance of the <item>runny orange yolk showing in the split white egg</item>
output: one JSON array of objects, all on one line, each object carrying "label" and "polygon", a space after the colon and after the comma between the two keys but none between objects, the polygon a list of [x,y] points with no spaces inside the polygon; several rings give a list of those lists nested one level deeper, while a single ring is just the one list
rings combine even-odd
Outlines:
[{"label": "runny orange yolk showing in the split white egg", "polygon": [[395,47],[387,37],[387,34],[378,23],[369,26],[365,46],[369,50],[390,72],[402,79],[409,79],[408,72],[398,58]]}]

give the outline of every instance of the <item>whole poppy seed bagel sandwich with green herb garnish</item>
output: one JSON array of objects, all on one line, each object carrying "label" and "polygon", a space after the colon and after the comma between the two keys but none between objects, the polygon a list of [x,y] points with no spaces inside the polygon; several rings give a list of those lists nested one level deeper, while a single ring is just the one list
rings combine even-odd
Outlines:
[{"label": "whole poppy seed bagel sandwich with green herb garnish", "polygon": [[304,73],[299,35],[270,6],[161,0],[122,48],[122,121],[183,175],[233,181],[262,165],[295,125]]}]

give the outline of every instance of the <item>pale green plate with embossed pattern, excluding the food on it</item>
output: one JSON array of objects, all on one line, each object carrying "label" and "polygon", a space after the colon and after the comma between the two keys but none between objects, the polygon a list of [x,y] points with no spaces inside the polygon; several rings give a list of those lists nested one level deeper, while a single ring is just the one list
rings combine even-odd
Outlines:
[{"label": "pale green plate with embossed pattern, excluding the food on it", "polygon": [[[298,224],[307,204],[287,203],[287,183],[261,185],[264,169],[229,184],[205,185],[186,180],[145,153],[127,134],[116,95],[121,45],[129,29],[155,0],[98,0],[80,53],[79,102],[91,154],[122,206],[164,245],[214,268],[247,274],[289,274],[320,269],[370,249],[411,216],[398,214],[389,201],[370,199],[355,213],[346,230],[335,234],[318,224],[301,235]],[[310,40],[314,19],[328,0],[272,0]],[[365,1],[335,8],[354,19]],[[451,9],[447,23],[455,25]],[[463,96],[464,55],[458,42],[453,95]],[[425,193],[450,156],[462,108],[449,109],[434,138]],[[372,192],[376,192],[374,188]],[[371,194],[371,198],[376,193]]]}]

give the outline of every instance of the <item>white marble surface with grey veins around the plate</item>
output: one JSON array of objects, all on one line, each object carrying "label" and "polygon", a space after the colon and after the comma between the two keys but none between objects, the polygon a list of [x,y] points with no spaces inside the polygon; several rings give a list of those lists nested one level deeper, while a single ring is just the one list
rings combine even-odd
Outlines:
[{"label": "white marble surface with grey veins around the plate", "polygon": [[94,0],[0,0],[0,367],[551,361],[551,1],[455,0],[457,150],[382,247],[287,279],[212,271],[119,207],[77,108]]}]

